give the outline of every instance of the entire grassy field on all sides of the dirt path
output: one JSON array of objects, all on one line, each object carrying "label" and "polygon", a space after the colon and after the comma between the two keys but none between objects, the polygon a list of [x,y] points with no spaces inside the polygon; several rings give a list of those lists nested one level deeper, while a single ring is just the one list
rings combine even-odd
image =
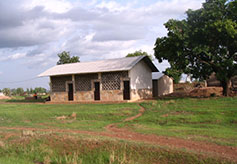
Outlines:
[{"label": "entire grassy field on all sides of the dirt path", "polygon": [[[109,124],[145,134],[237,147],[237,98],[172,99],[124,104],[38,104],[0,102],[0,164],[234,163],[221,156],[105,136]],[[76,113],[76,119],[70,118]],[[58,120],[57,117],[66,116]],[[11,129],[12,128],[12,129]],[[15,129],[14,129],[15,128]],[[50,131],[23,135],[17,128]]]}]

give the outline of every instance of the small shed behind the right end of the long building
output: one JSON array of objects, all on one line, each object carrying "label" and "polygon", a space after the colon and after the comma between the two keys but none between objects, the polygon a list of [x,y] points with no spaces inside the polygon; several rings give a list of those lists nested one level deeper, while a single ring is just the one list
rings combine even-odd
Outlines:
[{"label": "small shed behind the right end of the long building", "polygon": [[173,93],[173,79],[160,73],[152,73],[153,97],[163,96]]}]

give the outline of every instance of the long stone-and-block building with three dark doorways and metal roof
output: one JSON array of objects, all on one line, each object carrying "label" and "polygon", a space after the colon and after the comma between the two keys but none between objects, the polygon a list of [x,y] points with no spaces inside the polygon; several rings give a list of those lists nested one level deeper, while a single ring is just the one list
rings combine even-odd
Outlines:
[{"label": "long stone-and-block building with three dark doorways and metal roof", "polygon": [[123,101],[152,98],[152,72],[147,56],[54,66],[39,76],[50,77],[51,101]]}]

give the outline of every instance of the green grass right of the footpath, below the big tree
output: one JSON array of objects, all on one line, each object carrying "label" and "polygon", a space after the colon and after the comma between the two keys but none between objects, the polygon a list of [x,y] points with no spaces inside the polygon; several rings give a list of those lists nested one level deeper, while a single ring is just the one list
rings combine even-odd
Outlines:
[{"label": "green grass right of the footpath, below the big tree", "polygon": [[123,126],[141,133],[237,146],[237,98],[175,99],[142,103],[144,115]]}]

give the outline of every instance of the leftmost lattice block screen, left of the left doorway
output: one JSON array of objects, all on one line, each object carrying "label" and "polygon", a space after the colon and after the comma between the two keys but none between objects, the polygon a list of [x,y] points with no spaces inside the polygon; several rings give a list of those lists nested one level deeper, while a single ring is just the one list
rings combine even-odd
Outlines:
[{"label": "leftmost lattice block screen, left of the left doorway", "polygon": [[72,81],[72,76],[52,76],[52,92],[66,92],[66,81]]}]

